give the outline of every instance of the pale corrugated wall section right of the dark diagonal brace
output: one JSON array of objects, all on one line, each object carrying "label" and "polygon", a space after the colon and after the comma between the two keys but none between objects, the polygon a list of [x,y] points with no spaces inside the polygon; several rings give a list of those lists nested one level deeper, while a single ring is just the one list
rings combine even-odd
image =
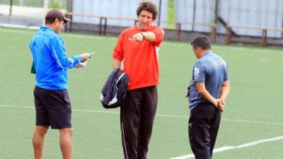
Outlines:
[{"label": "pale corrugated wall section right of the dark diagonal brace", "polygon": [[[260,28],[282,28],[282,0],[219,0],[219,15],[229,25],[249,25]],[[239,35],[260,36],[261,30],[233,29]],[[221,33],[225,29],[221,28]],[[282,37],[282,33],[269,31],[269,37]]]}]

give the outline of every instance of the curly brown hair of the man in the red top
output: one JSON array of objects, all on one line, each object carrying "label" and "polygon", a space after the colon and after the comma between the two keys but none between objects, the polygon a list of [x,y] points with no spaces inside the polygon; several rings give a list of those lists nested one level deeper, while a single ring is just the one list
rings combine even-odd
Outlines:
[{"label": "curly brown hair of the man in the red top", "polygon": [[158,15],[158,9],[157,9],[156,4],[154,4],[153,1],[142,1],[139,4],[139,7],[137,8],[137,16],[139,16],[141,11],[144,11],[144,10],[152,13],[153,20],[156,19],[156,16]]}]

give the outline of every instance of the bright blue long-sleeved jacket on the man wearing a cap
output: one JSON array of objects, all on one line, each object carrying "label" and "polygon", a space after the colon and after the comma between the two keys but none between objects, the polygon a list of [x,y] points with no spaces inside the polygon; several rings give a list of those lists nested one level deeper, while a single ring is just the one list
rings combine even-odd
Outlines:
[{"label": "bright blue long-sleeved jacket on the man wearing a cap", "polygon": [[66,90],[67,69],[74,68],[82,57],[67,57],[62,37],[45,26],[33,36],[30,51],[35,64],[35,85],[48,90]]}]

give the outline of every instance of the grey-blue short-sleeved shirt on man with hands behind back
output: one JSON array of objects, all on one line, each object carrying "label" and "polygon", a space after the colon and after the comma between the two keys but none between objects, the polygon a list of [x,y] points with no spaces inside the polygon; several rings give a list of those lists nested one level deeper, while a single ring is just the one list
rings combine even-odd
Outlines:
[{"label": "grey-blue short-sleeved shirt on man with hands behind back", "polygon": [[189,88],[190,110],[200,103],[209,103],[197,91],[196,82],[204,83],[207,91],[214,98],[219,98],[222,83],[227,80],[227,66],[224,59],[211,51],[205,52],[204,56],[197,60],[192,69],[192,80]]}]

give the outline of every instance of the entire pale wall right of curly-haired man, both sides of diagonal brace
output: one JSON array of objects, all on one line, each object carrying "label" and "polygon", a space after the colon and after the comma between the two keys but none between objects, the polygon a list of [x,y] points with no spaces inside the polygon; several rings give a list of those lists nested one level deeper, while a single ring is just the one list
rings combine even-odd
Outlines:
[{"label": "entire pale wall right of curly-haired man, both sides of diagonal brace", "polygon": [[[214,22],[215,0],[196,0],[195,23]],[[177,22],[192,23],[194,0],[175,0]],[[219,16],[229,25],[249,25],[260,28],[283,27],[283,0],[219,0]],[[192,25],[182,26],[183,30],[192,30]],[[194,30],[210,32],[205,26],[195,26]],[[260,30],[236,29],[238,35],[260,36]],[[219,33],[226,33],[222,25],[217,25]],[[270,31],[269,37],[282,37],[281,32]]]}]

